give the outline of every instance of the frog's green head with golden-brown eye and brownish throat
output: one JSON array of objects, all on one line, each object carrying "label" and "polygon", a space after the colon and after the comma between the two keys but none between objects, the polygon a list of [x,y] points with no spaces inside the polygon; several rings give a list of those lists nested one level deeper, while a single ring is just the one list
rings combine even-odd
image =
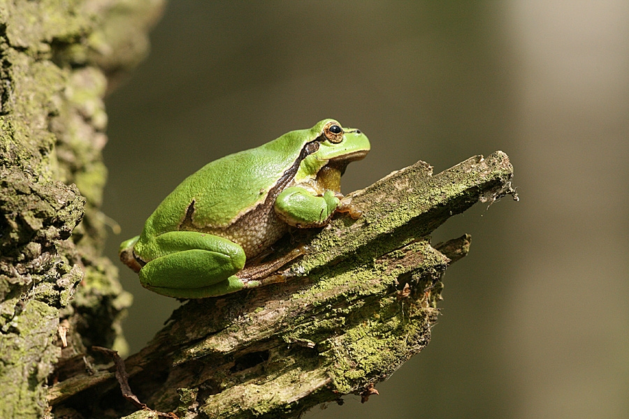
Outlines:
[{"label": "frog's green head with golden-brown eye and brownish throat", "polygon": [[[306,131],[307,154],[299,165],[296,180],[315,178],[335,184],[347,164],[363,159],[370,150],[367,136],[355,128],[343,128],[335,119],[324,119]],[[329,189],[337,189],[334,185]]]}]

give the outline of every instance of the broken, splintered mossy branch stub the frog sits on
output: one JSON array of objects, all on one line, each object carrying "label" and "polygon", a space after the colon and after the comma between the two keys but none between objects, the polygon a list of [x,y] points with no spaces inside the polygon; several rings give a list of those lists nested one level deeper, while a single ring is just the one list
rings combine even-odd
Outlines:
[{"label": "broken, splintered mossy branch stub the frog sits on", "polygon": [[[126,360],[131,388],[152,409],[186,418],[293,418],[349,393],[365,399],[428,344],[440,278],[467,253],[468,235],[437,249],[428,235],[479,200],[516,198],[511,177],[509,159],[496,152],[434,176],[420,161],[357,191],[360,219],[339,216],[292,237],[308,251],[284,267],[284,284],[176,310]],[[287,238],[276,250],[295,246]],[[131,412],[113,369],[57,383],[49,400],[89,417],[105,416],[94,400]]]}]

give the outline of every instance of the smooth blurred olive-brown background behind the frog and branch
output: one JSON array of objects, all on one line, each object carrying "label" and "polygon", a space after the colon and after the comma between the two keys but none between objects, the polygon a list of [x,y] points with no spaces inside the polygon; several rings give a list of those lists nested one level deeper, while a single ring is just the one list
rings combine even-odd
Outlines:
[{"label": "smooth blurred olive-brown background behind the frog and branch", "polygon": [[[436,232],[472,249],[431,344],[368,403],[305,418],[628,418],[628,16],[624,0],[172,1],[107,101],[107,254],[205,163],[326,117],[371,140],[345,193],[500,149],[521,200]],[[178,303],[120,272],[135,352]]]}]

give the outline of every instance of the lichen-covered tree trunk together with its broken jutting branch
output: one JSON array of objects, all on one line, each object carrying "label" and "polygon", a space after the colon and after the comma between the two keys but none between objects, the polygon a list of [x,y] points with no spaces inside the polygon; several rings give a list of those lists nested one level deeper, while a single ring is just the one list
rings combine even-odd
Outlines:
[{"label": "lichen-covered tree trunk together with its broken jutting branch", "polygon": [[307,246],[285,282],[187,302],[126,372],[92,350],[124,348],[131,302],[101,256],[102,97],[143,56],[161,1],[55,4],[0,0],[1,418],[157,415],[121,384],[179,417],[294,418],[368,398],[428,344],[441,275],[470,244],[429,235],[514,194],[502,152],[434,176],[419,162],[357,191],[360,219],[275,247]]}]

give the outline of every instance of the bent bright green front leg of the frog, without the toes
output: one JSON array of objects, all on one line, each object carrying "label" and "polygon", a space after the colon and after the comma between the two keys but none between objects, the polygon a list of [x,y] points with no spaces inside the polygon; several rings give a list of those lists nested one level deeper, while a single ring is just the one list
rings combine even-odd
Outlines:
[{"label": "bent bright green front leg of the frog, without the toes", "polygon": [[291,186],[275,199],[275,213],[294,227],[321,227],[328,223],[339,203],[333,191],[315,196],[299,186]]}]

